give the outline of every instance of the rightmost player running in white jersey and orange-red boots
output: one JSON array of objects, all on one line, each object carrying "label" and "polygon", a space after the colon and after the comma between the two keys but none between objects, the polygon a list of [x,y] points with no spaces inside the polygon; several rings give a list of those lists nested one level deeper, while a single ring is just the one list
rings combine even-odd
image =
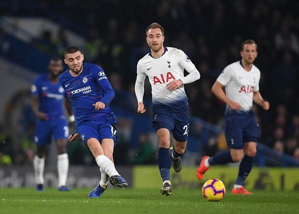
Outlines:
[{"label": "rightmost player running in white jersey and orange-red boots", "polygon": [[241,56],[242,60],[223,70],[212,87],[216,97],[227,104],[225,134],[230,152],[213,157],[204,156],[197,168],[197,178],[201,180],[210,165],[241,161],[232,193],[252,194],[243,186],[252,169],[259,139],[259,126],[252,111],[252,103],[255,102],[264,110],[269,109],[269,103],[263,100],[259,92],[260,70],[253,65],[257,57],[257,44],[253,40],[244,41]]}]

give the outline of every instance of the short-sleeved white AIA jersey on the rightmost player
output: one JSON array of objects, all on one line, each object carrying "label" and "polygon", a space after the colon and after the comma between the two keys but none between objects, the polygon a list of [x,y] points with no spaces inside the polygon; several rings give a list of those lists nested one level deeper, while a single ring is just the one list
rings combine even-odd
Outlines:
[{"label": "short-sleeved white AIA jersey on the rightmost player", "polygon": [[225,86],[227,97],[241,105],[241,111],[249,111],[253,103],[253,92],[259,91],[260,77],[260,70],[255,65],[247,72],[241,61],[236,61],[223,69],[217,81]]}]

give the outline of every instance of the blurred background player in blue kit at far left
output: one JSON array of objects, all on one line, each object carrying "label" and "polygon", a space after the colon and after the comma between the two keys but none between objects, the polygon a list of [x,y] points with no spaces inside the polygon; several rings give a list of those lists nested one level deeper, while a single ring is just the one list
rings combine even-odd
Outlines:
[{"label": "blurred background player in blue kit at far left", "polygon": [[63,70],[62,60],[53,57],[48,65],[49,74],[39,75],[34,80],[31,87],[31,107],[37,117],[35,130],[35,143],[37,154],[33,159],[37,191],[44,190],[44,165],[46,155],[46,145],[51,142],[53,136],[57,145],[57,169],[58,169],[58,189],[68,191],[66,179],[68,172],[68,156],[66,153],[68,124],[63,112],[63,102],[70,116],[70,121],[74,121],[74,116],[69,105],[68,98],[60,83],[58,76]]}]

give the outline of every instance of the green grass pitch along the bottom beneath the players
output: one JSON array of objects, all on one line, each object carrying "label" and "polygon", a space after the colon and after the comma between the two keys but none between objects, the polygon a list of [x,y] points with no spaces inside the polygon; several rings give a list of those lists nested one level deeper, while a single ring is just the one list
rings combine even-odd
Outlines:
[{"label": "green grass pitch along the bottom beneath the players", "polygon": [[174,189],[172,196],[164,196],[160,189],[109,188],[101,198],[89,198],[89,191],[0,188],[0,213],[299,213],[297,191],[254,191],[254,195],[227,192],[218,202],[205,200],[198,189]]}]

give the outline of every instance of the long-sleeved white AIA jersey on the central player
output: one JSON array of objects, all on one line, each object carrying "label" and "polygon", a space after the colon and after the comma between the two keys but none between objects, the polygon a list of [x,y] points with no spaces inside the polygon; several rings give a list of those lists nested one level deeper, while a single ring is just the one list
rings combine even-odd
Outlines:
[{"label": "long-sleeved white AIA jersey on the central player", "polygon": [[174,91],[167,90],[166,85],[173,80],[182,80],[184,69],[190,73],[196,68],[182,50],[173,47],[165,47],[165,50],[166,52],[158,59],[148,53],[138,61],[136,81],[143,83],[147,75],[152,85],[154,107],[163,105],[170,111],[178,112],[188,108],[184,84]]}]

